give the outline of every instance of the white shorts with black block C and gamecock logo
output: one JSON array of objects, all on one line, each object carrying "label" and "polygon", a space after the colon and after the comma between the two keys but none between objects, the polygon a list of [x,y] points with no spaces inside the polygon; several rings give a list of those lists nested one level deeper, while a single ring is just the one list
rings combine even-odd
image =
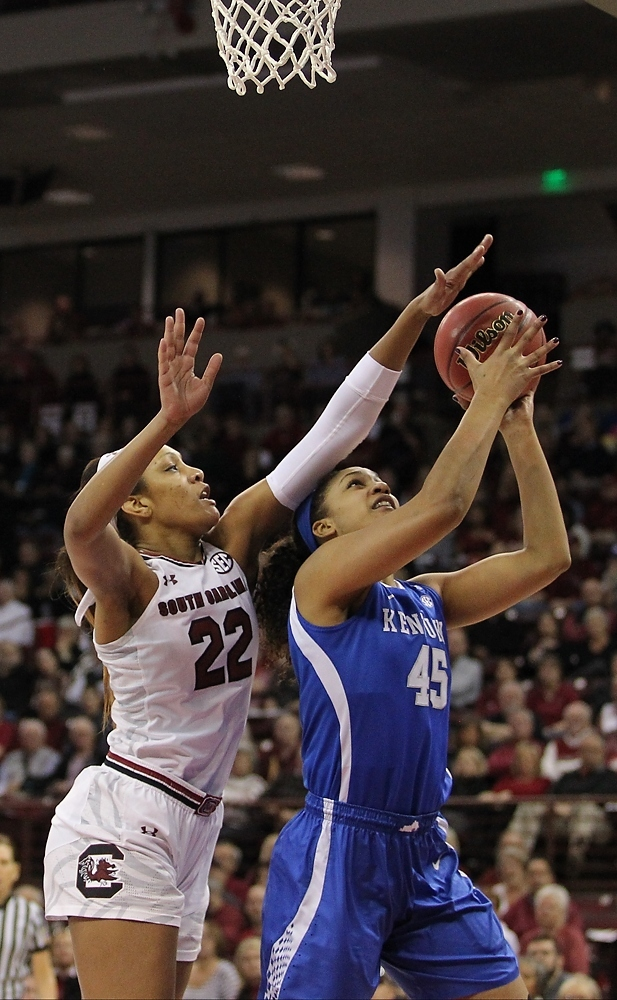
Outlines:
[{"label": "white shorts with black block C and gamecock logo", "polygon": [[223,821],[111,768],[88,767],[56,809],[45,850],[48,920],[96,917],[179,928],[199,954],[208,874]]}]

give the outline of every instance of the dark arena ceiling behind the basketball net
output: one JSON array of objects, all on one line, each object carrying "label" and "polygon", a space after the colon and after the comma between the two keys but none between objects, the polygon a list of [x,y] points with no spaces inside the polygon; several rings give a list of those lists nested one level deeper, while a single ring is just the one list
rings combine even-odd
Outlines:
[{"label": "dark arena ceiling behind the basketball net", "polygon": [[[190,40],[4,72],[0,52],[0,192],[2,176],[53,170],[52,187],[91,196],[0,206],[0,228],[555,167],[617,177],[617,19],[567,0],[509,6],[407,24],[341,16],[334,85],[243,98],[211,45]],[[323,176],[284,181],[290,163]]]}]

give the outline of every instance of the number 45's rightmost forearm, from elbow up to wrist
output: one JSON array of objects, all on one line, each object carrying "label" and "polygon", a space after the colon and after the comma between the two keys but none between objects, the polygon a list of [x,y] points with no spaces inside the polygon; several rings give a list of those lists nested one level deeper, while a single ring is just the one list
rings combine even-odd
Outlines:
[{"label": "number 45's rightmost forearm, from elbow up to wrist", "polygon": [[518,483],[523,516],[523,544],[547,571],[570,565],[568,534],[557,489],[531,421],[504,434]]}]

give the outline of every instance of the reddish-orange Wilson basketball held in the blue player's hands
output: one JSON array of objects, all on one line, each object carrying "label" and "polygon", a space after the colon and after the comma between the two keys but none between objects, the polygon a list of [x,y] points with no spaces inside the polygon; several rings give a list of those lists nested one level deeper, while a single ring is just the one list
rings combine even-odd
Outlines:
[{"label": "reddish-orange Wilson basketball held in the blue player's hands", "polygon": [[[435,364],[448,388],[461,399],[469,401],[472,398],[473,386],[456,348],[466,347],[479,361],[484,361],[493,353],[519,309],[524,313],[522,332],[536,319],[535,314],[523,302],[499,292],[482,292],[461,299],[443,317],[435,335]],[[544,330],[540,329],[527,353],[531,354],[545,343]],[[539,378],[532,379],[530,386],[535,389],[539,381]]]}]

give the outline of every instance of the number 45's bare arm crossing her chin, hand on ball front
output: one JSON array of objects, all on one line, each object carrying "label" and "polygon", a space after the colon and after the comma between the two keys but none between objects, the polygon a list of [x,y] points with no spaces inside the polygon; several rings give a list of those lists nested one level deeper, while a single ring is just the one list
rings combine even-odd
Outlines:
[{"label": "number 45's bare arm crossing her chin, hand on ball front", "polygon": [[[491,445],[505,411],[530,380],[530,367],[544,358],[551,344],[525,355],[541,321],[518,337],[518,322],[502,337],[483,363],[462,351],[474,385],[474,396],[457,430],[441,452],[420,492],[408,503],[374,523],[332,538],[302,565],[296,596],[302,614],[324,624],[329,611],[346,609],[372,583],[395,573],[457,527],[478,489]],[[560,362],[538,364],[535,373],[555,370]],[[322,532],[327,540],[328,532]]]}]

